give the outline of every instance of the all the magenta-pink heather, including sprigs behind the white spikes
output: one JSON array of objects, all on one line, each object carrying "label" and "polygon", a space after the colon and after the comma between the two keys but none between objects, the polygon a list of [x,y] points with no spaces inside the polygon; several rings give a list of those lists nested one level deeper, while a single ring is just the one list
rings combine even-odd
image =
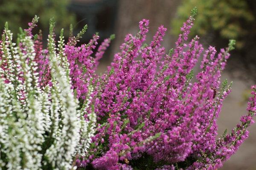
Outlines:
[{"label": "all the magenta-pink heather, including sprigs behind the white spikes", "polygon": [[[81,103],[88,103],[84,118],[92,111],[97,115],[96,134],[88,153],[76,157],[78,167],[132,170],[150,165],[148,170],[215,170],[248,137],[247,127],[256,113],[256,86],[241,124],[216,140],[216,119],[231,92],[231,84],[221,84],[221,72],[235,42],[230,40],[215,56],[215,47],[204,50],[198,36],[187,41],[194,16],[192,13],[183,24],[176,46],[168,54],[161,46],[166,28],[160,26],[147,45],[149,20],[143,19],[140,31],[125,37],[120,52],[101,76],[95,70],[113,36],[102,42],[95,55],[98,34],[81,46],[76,46],[77,37],[69,39],[64,55],[70,63],[72,88]],[[35,43],[36,61],[44,86],[50,84],[49,56],[39,40],[41,37]],[[201,54],[201,71],[191,81]]]}]

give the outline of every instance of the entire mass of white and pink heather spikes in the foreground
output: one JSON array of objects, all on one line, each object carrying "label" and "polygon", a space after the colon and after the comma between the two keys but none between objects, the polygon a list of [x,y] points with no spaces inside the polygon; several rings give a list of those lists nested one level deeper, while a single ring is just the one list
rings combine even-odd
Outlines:
[{"label": "entire mass of white and pink heather spikes in the foreground", "polygon": [[[221,72],[235,41],[230,40],[217,56],[212,46],[204,50],[198,36],[188,41],[195,14],[193,9],[175,48],[167,54],[161,46],[166,28],[160,26],[147,45],[149,20],[141,20],[140,31],[125,37],[120,52],[101,76],[95,71],[113,35],[97,48],[98,33],[89,43],[77,45],[87,26],[67,43],[61,30],[55,47],[51,20],[48,46],[43,49],[40,34],[32,40],[37,19],[20,34],[17,46],[6,28],[0,53],[0,134],[4,136],[0,140],[0,167],[221,167],[248,137],[247,127],[256,113],[256,86],[252,86],[247,114],[241,117],[241,123],[231,133],[217,138],[216,119],[232,84],[220,82]],[[201,71],[192,81],[192,69],[201,55]],[[28,136],[27,140],[20,141],[23,135]],[[33,164],[26,164],[24,154],[30,152],[35,157],[26,159]]]}]

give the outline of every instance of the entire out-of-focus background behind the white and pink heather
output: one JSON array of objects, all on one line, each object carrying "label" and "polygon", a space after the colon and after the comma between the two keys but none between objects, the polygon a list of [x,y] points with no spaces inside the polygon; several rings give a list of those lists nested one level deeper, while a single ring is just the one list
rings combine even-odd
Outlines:
[{"label": "entire out-of-focus background behind the white and pink heather", "polygon": [[[95,32],[99,32],[100,42],[116,34],[100,63],[98,73],[101,73],[119,50],[125,35],[138,32],[138,22],[143,18],[150,20],[147,43],[163,24],[168,29],[163,46],[166,50],[173,48],[180,26],[195,6],[198,15],[191,38],[198,35],[205,48],[211,44],[217,49],[226,47],[229,39],[237,40],[236,50],[231,52],[222,75],[223,79],[233,81],[232,93],[224,101],[218,118],[222,134],[226,128],[230,132],[246,112],[250,85],[256,83],[256,0],[0,0],[0,30],[8,21],[16,35],[18,28],[26,28],[36,14],[40,22],[35,32],[42,29],[44,40],[51,17],[57,22],[55,31],[64,28],[66,37],[70,23],[74,35],[87,24],[87,33],[80,43],[87,43]],[[249,138],[221,170],[256,170],[255,124],[250,127]]]}]

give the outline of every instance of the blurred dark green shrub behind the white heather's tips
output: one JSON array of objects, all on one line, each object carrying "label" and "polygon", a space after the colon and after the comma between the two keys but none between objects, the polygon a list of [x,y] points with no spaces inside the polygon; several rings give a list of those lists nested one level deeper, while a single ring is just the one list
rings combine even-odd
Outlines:
[{"label": "blurred dark green shrub behind the white heather's tips", "polygon": [[57,21],[56,29],[67,28],[74,23],[74,14],[70,14],[67,6],[70,0],[0,0],[0,30],[8,21],[14,35],[18,27],[26,28],[27,23],[36,15],[40,17],[38,23],[41,29],[48,29],[49,19]]}]

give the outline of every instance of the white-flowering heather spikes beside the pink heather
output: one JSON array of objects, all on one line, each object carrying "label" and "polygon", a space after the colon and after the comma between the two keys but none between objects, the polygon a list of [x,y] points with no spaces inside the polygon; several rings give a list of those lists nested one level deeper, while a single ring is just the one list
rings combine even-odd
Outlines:
[{"label": "white-flowering heather spikes beside the pink heather", "polygon": [[17,45],[12,43],[6,24],[0,42],[0,170],[75,169],[76,155],[89,147],[96,116],[90,113],[89,121],[81,116],[85,109],[79,109],[71,89],[63,30],[56,49],[53,26],[48,39],[52,86],[41,88],[32,37],[23,31]]}]

